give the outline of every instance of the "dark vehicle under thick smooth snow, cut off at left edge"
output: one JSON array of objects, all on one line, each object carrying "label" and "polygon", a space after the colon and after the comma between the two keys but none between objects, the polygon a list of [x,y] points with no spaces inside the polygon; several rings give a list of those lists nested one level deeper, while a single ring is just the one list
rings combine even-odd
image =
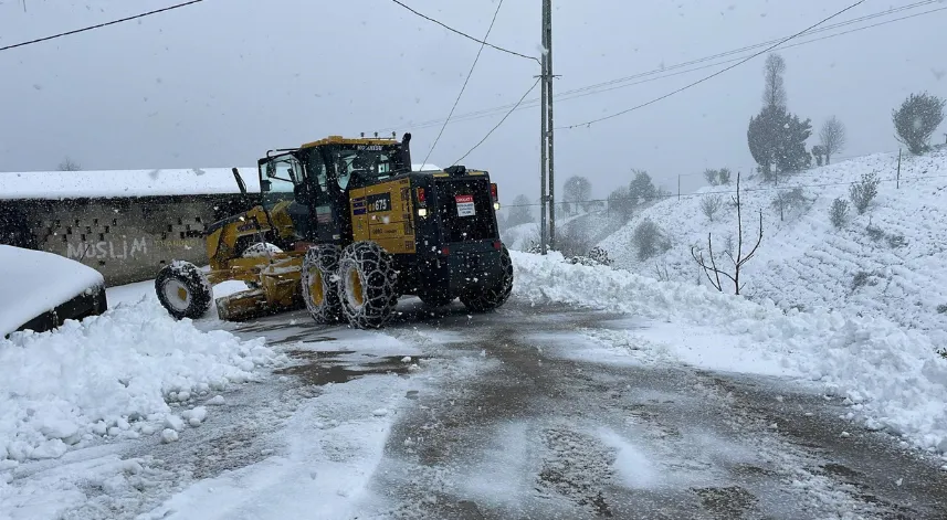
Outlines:
[{"label": "dark vehicle under thick smooth snow, cut off at left edge", "polygon": [[0,337],[42,332],[108,307],[105,280],[92,267],[42,251],[0,245]]}]

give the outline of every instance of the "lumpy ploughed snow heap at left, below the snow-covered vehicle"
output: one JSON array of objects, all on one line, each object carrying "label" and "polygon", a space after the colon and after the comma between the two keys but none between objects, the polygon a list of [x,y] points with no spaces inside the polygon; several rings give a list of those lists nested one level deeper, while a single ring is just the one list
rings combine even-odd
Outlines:
[{"label": "lumpy ploughed snow heap at left, below the snow-covered vehicle", "polygon": [[151,300],[52,332],[15,332],[0,340],[0,470],[60,457],[94,435],[135,438],[197,426],[207,408],[178,416],[168,402],[204,401],[282,361],[262,339],[199,331]]}]

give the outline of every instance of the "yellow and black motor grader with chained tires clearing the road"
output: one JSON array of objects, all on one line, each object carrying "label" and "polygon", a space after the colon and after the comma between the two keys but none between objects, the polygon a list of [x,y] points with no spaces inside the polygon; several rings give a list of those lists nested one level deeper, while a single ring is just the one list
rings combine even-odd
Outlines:
[{"label": "yellow and black motor grader with chained tires clearing the road", "polygon": [[242,280],[246,290],[217,299],[221,319],[305,307],[318,322],[377,328],[402,295],[435,307],[460,298],[472,311],[502,306],[513,266],[496,184],[463,166],[412,171],[410,139],[329,136],[267,152],[259,204],[208,226],[209,270],[180,261],[161,269],[161,305],[198,318],[213,285]]}]

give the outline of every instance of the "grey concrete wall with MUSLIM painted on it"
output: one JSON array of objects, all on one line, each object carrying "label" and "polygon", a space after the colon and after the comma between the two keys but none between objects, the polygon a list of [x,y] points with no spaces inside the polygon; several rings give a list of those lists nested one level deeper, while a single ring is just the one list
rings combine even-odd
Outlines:
[{"label": "grey concrete wall with MUSLIM painted on it", "polygon": [[243,205],[240,195],[225,194],[6,200],[0,243],[78,261],[106,285],[123,285],[151,279],[175,259],[206,265],[206,226]]}]

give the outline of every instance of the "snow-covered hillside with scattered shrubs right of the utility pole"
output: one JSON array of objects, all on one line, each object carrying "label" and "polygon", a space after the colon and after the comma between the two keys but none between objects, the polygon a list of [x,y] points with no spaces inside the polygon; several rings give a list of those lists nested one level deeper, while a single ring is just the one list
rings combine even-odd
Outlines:
[{"label": "snow-covered hillside with scattered shrubs right of the utility pole", "polygon": [[[758,178],[744,178],[744,240],[755,242],[759,209],[764,240],[741,273],[743,293],[771,299],[783,310],[822,307],[885,317],[926,332],[940,349],[947,346],[947,151],[906,156],[899,187],[896,171],[897,155],[880,153],[781,179],[781,191]],[[881,179],[877,197],[861,215],[850,203],[845,223],[836,230],[830,222],[832,201],[848,200],[850,185],[872,172]],[[707,233],[713,233],[718,265],[729,265],[722,252],[727,237],[736,235],[736,212],[729,205],[734,188],[707,187],[680,201],[662,201],[601,245],[618,267],[709,285],[691,257],[691,246],[706,251]],[[804,201],[786,208],[781,221],[774,201],[779,193],[790,197],[793,188],[801,188]],[[712,197],[723,200],[714,222],[702,210],[702,201]],[[645,219],[661,227],[671,248],[640,261],[632,236]],[[733,293],[732,284],[728,288],[725,282],[724,287]]]}]

